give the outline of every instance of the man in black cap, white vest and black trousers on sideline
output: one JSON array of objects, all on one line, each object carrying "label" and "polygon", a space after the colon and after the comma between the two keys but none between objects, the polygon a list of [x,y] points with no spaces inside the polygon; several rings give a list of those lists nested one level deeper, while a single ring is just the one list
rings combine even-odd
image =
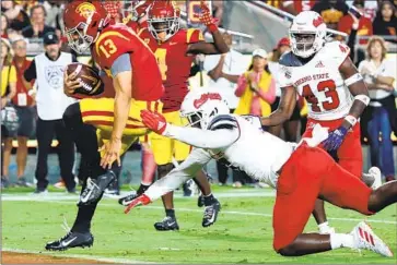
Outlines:
[{"label": "man in black cap, white vest and black trousers on sideline", "polygon": [[[38,155],[36,165],[37,188],[35,193],[47,193],[47,158],[52,137],[59,141],[58,156],[60,173],[69,193],[75,193],[74,176],[74,143],[66,130],[62,116],[66,108],[75,100],[63,94],[63,71],[73,59],[71,53],[60,51],[58,36],[51,32],[44,35],[44,49],[46,52],[36,56],[30,68],[24,73],[25,85],[30,89],[28,95],[37,103],[36,136]],[[37,82],[37,95],[28,83]]]}]

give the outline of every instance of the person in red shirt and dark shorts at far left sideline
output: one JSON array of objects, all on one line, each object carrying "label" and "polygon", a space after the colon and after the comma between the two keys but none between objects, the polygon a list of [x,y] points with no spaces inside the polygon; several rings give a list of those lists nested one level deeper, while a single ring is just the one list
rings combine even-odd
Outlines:
[{"label": "person in red shirt and dark shorts at far left sideline", "polygon": [[[16,185],[31,186],[24,178],[26,159],[27,159],[27,140],[34,131],[35,110],[33,106],[34,100],[28,96],[26,87],[22,81],[23,73],[31,65],[31,61],[26,59],[26,40],[23,38],[15,39],[12,43],[12,48],[15,52],[12,64],[16,69],[16,95],[12,98],[13,107],[16,110],[20,127],[17,131],[10,132],[4,140],[4,156],[11,155],[12,140],[16,136],[17,149],[16,149]],[[4,159],[10,162],[10,158]],[[8,166],[8,165],[5,165]]]}]

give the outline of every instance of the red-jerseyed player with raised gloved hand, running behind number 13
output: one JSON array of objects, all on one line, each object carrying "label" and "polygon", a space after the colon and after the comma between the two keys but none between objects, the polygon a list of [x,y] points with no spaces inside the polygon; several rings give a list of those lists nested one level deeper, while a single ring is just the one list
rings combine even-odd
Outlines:
[{"label": "red-jerseyed player with raised gloved hand, running behind number 13", "polygon": [[[139,36],[149,45],[157,59],[165,87],[162,97],[163,113],[167,122],[183,125],[184,119],[179,116],[179,108],[188,92],[188,77],[195,55],[225,53],[229,51],[229,47],[224,43],[205,1],[201,1],[200,21],[212,34],[214,43],[206,43],[200,29],[179,28],[179,9],[174,5],[173,1],[154,1],[148,10],[149,27],[140,31]],[[173,169],[174,159],[176,162],[182,162],[190,152],[190,146],[157,134],[150,134],[149,142],[157,165],[159,178],[164,177]],[[220,204],[211,194],[211,188],[203,171],[200,170],[194,180],[203,194],[206,209],[202,226],[208,227],[217,220]],[[137,194],[120,198],[120,204],[129,204],[148,186],[142,183]],[[163,204],[166,217],[154,224],[155,229],[177,230],[178,224],[175,217],[173,193],[163,196]]]}]

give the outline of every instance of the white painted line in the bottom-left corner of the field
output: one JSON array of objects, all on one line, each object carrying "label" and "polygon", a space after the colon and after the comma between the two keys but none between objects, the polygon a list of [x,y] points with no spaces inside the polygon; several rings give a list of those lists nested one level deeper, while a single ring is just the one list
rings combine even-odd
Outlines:
[{"label": "white painted line in the bottom-left corner of the field", "polygon": [[[83,255],[83,254],[68,254],[68,253],[55,253],[55,252],[46,252],[46,251],[30,251],[30,250],[19,250],[19,249],[8,249],[3,248],[1,250],[14,252],[14,253],[24,253],[24,254],[38,254],[38,255],[47,255],[47,256],[57,256],[57,257],[71,257],[71,258],[82,258],[82,260],[91,260],[96,262],[106,262],[106,263],[120,263],[120,264],[154,264],[151,262],[141,262],[129,258],[121,257],[103,257],[95,255]],[[157,262],[155,264],[159,264]]]}]

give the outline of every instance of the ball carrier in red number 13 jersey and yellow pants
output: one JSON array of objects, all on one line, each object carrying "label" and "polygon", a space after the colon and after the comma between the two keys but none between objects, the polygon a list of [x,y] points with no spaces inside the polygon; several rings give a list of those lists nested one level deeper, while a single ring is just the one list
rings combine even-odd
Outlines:
[{"label": "ball carrier in red number 13 jersey and yellow pants", "polygon": [[[79,150],[90,165],[91,174],[83,183],[71,231],[48,243],[47,250],[93,244],[92,217],[104,190],[115,180],[109,169],[115,160],[120,166],[120,154],[138,136],[149,132],[141,122],[140,110],[161,111],[159,99],[164,92],[153,52],[126,25],[110,25],[109,15],[100,1],[72,1],[65,8],[63,21],[69,46],[79,53],[91,49],[93,60],[112,79],[115,97],[84,98],[68,107],[63,115]],[[80,86],[75,77],[66,76],[68,94]],[[98,142],[105,143],[100,148],[101,154]]]}]

